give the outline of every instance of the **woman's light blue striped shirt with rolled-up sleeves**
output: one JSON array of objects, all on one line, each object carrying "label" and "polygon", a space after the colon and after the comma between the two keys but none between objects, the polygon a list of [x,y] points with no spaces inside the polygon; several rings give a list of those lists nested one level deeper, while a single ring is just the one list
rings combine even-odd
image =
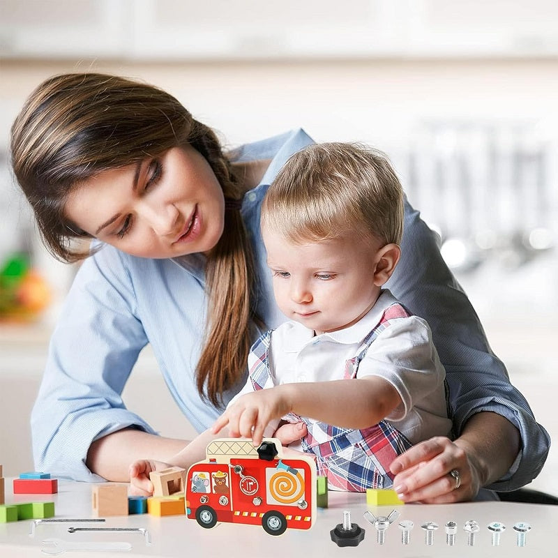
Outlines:
[{"label": "woman's light blue striped shirt with rolled-up sleeves", "polygon": [[[294,130],[247,144],[237,160],[272,158],[262,182],[246,193],[242,215],[255,249],[257,310],[269,327],[285,321],[273,300],[259,234],[267,186],[292,153],[312,140]],[[502,414],[521,432],[512,469],[490,486],[513,490],[541,470],[550,438],[492,354],[467,296],[444,264],[434,236],[409,204],[402,257],[386,288],[425,318],[446,368],[455,433],[479,411]],[[54,330],[47,366],[31,415],[38,471],[79,481],[101,481],[85,465],[91,442],[131,425],[156,433],[123,404],[121,393],[142,348],[150,343],[176,405],[202,431],[219,414],[199,397],[195,366],[204,335],[204,257],[144,259],[103,246],[85,260]],[[225,394],[225,403],[246,382]]]}]

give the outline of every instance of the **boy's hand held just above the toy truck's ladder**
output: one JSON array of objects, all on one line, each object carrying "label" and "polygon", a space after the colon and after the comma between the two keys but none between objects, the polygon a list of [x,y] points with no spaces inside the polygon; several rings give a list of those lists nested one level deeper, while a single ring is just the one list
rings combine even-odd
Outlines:
[{"label": "boy's hand held just above the toy truck's ladder", "polygon": [[228,424],[231,437],[252,438],[252,443],[259,446],[269,422],[291,411],[283,388],[276,386],[242,395],[217,419],[211,431],[218,434]]}]

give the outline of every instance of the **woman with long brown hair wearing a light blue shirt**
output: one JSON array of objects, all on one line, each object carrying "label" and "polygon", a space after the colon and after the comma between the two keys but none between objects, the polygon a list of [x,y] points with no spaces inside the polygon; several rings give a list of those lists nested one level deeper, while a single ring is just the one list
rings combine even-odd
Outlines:
[{"label": "woman with long brown hair wearing a light blue shirt", "polygon": [[[43,240],[74,261],[86,256],[75,239],[97,239],[52,336],[33,408],[38,469],[126,481],[130,462],[165,461],[183,447],[123,406],[148,342],[188,420],[200,431],[213,422],[246,380],[252,341],[285,319],[273,303],[259,205],[285,160],[311,142],[298,130],[227,155],[172,96],[114,76],[59,75],[31,94],[11,151]],[[485,485],[524,485],[543,465],[548,435],[409,204],[402,252],[386,287],[430,323],[458,437],[396,459],[395,488],[409,502],[455,502]]]}]

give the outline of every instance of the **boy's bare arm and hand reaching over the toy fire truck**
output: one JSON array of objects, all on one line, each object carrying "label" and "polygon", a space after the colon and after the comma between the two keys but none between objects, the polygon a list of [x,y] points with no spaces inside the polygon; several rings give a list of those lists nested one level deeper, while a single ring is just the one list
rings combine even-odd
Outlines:
[{"label": "boy's bare arm and hand reaching over the toy fire truck", "polygon": [[[228,425],[229,435],[262,442],[266,425],[294,412],[342,428],[367,428],[388,416],[402,402],[384,378],[367,376],[347,382],[297,382],[247,393],[230,405],[213,425],[217,434]],[[253,429],[253,430],[252,430]]]}]

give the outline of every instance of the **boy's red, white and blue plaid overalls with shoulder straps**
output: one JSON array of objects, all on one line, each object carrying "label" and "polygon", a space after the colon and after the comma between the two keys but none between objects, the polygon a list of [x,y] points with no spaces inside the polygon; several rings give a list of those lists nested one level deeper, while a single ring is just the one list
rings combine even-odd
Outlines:
[{"label": "boy's red, white and blue plaid overalls with shoulder straps", "polygon": [[[363,340],[358,354],[345,363],[342,377],[355,378],[359,363],[377,335],[389,327],[391,320],[409,315],[399,303],[386,308],[377,326]],[[250,379],[255,391],[274,385],[269,372],[270,340],[271,331],[268,331],[252,347],[252,354],[256,359],[250,368]],[[308,435],[301,441],[303,450],[316,455],[317,472],[321,476],[327,476],[330,486],[347,492],[390,488],[393,485],[393,474],[389,472],[389,465],[397,455],[411,447],[405,435],[386,421],[380,421],[363,430],[352,430],[310,421],[292,413],[284,418],[306,423]]]}]

